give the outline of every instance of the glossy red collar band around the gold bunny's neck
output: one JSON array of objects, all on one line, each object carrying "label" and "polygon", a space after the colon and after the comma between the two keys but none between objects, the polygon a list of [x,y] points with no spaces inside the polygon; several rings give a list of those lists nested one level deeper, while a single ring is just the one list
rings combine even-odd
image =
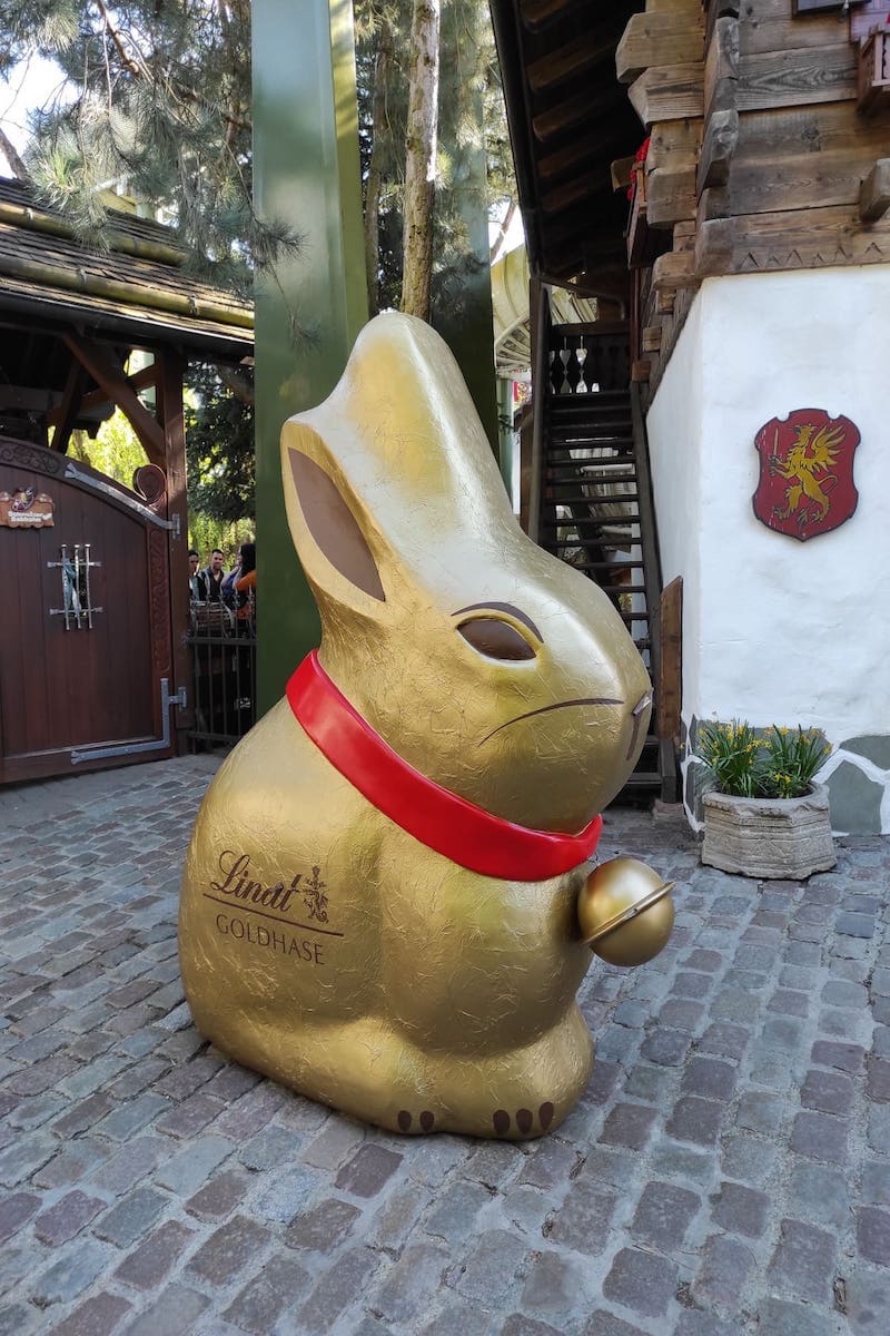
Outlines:
[{"label": "glossy red collar band around the gold bunny's neck", "polygon": [[602,816],[594,816],[578,835],[530,830],[427,779],[352,708],[315,649],[288,681],[287,699],[304,732],[354,788],[460,867],[504,880],[543,882],[578,867],[596,848]]}]

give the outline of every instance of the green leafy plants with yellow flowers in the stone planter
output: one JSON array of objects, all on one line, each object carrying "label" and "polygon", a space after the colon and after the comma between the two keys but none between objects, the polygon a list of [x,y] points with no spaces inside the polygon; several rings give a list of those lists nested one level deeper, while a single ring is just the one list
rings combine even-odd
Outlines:
[{"label": "green leafy plants with yellow flowers in the stone planter", "polygon": [[734,798],[801,798],[830,749],[817,729],[773,724],[758,737],[738,719],[702,724],[697,741],[715,788]]}]

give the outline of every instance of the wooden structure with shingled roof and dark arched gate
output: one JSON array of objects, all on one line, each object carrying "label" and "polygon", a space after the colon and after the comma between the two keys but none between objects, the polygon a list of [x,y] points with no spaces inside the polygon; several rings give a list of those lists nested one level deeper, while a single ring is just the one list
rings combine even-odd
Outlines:
[{"label": "wooden structure with shingled roof and dark arched gate", "polygon": [[[252,309],[184,262],[123,212],[87,250],[0,182],[0,783],[169,756],[191,724],[183,373],[251,357]],[[67,454],[115,407],[132,488]]]}]

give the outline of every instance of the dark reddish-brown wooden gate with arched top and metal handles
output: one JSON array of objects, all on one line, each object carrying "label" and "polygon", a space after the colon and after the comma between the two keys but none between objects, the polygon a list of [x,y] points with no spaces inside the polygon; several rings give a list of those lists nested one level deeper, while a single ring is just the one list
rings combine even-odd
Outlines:
[{"label": "dark reddish-brown wooden gate with arched top and metal handles", "polygon": [[172,526],[148,481],[140,500],[0,438],[0,783],[173,754]]}]

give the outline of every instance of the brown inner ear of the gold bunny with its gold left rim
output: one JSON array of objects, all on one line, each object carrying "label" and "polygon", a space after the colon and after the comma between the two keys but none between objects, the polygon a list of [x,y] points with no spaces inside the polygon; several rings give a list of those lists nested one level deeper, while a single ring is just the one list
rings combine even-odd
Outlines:
[{"label": "brown inner ear of the gold bunny with its gold left rim", "polygon": [[[318,441],[318,436],[311,433],[307,444]],[[292,489],[288,481],[292,481]],[[351,591],[352,595],[360,592],[386,603],[380,572],[359,518],[362,508],[346,480],[335,480],[308,453],[286,442],[284,490],[298,554],[319,592],[338,603],[355,604]],[[326,564],[347,584],[331,578]],[[364,605],[360,596],[359,601]]]}]

